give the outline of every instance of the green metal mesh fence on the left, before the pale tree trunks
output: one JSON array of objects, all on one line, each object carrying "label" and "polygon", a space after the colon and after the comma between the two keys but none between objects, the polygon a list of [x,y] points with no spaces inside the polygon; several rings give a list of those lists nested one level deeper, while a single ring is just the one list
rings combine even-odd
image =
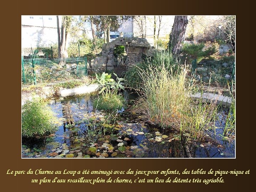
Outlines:
[{"label": "green metal mesh fence on the left, before the pale tree trunks", "polygon": [[33,58],[21,57],[22,82],[36,85],[37,82],[68,80],[70,77],[87,76],[87,58]]}]

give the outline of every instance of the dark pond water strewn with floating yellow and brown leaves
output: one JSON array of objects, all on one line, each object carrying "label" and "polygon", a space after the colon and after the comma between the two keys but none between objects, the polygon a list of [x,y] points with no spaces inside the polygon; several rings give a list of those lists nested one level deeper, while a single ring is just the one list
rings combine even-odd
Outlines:
[{"label": "dark pond water strewn with floating yellow and brown leaves", "polygon": [[220,136],[227,108],[219,111],[216,128],[205,130],[199,142],[187,134],[152,127],[127,110],[111,114],[96,111],[92,106],[96,97],[85,94],[50,100],[49,105],[63,124],[49,137],[29,141],[23,138],[22,158],[235,157],[235,141]]}]

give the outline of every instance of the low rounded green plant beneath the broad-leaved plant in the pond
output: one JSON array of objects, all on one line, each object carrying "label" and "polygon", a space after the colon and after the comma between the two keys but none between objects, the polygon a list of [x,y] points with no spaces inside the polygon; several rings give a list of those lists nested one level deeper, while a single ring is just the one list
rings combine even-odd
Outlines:
[{"label": "low rounded green plant beneath the broad-leaved plant in the pond", "polygon": [[99,110],[114,111],[123,107],[124,98],[121,95],[110,94],[94,100],[94,107]]}]

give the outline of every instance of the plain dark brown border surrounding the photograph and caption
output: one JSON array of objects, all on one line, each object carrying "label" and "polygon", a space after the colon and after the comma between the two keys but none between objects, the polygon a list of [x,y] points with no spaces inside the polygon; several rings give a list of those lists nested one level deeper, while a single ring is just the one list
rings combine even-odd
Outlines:
[{"label": "plain dark brown border surrounding the photograph and caption", "polygon": [[[197,1],[198,2],[198,1]],[[1,27],[1,47],[4,50],[2,54],[2,112],[4,118],[2,121],[1,138],[1,188],[8,191],[54,191],[54,190],[104,190],[104,191],[156,191],[156,190],[197,190],[197,191],[219,191],[235,190],[240,186],[244,191],[249,191],[254,170],[251,163],[250,150],[252,137],[248,133],[252,132],[253,124],[249,124],[252,114],[246,106],[249,95],[249,71],[254,65],[254,59],[251,55],[254,49],[251,48],[253,41],[250,41],[254,34],[249,29],[251,17],[242,14],[244,5],[236,6],[233,2],[212,2],[200,1],[18,1],[5,2],[8,9],[2,9],[2,27]],[[245,4],[245,3],[244,3]],[[7,7],[6,7],[7,8]],[[236,159],[21,159],[20,149],[20,126],[21,126],[21,86],[20,86],[20,47],[21,47],[21,15],[236,15]],[[243,53],[243,54],[242,54]],[[251,54],[252,53],[252,54]],[[250,58],[250,59],[249,59]],[[250,85],[251,86],[251,85]],[[248,119],[248,120],[247,120]],[[250,122],[252,122],[250,120]],[[250,132],[251,131],[251,132]],[[250,175],[243,176],[225,176],[225,183],[212,184],[192,184],[192,183],[133,183],[133,184],[108,184],[86,185],[82,183],[54,185],[47,183],[45,185],[33,184],[32,178],[41,178],[42,176],[10,176],[6,174],[11,170],[180,170],[184,169],[210,169],[214,170],[251,170]],[[117,176],[117,175],[116,175]],[[124,178],[122,175],[118,175]],[[46,176],[53,178],[54,176]],[[65,177],[65,176],[63,176]],[[63,178],[62,177],[62,178]],[[99,176],[103,177],[103,176]],[[190,177],[192,177],[190,175]],[[194,176],[199,177],[199,176]],[[128,177],[126,177],[128,178]],[[134,178],[134,177],[133,177]],[[147,177],[150,178],[150,177]],[[209,177],[210,178],[210,177]],[[134,188],[136,187],[136,188]]]}]

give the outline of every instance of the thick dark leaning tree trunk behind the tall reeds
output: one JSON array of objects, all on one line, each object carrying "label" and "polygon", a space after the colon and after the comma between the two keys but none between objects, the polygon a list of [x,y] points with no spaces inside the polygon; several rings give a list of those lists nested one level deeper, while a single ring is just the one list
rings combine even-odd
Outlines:
[{"label": "thick dark leaning tree trunk behind the tall reeds", "polygon": [[187,16],[175,16],[174,18],[174,25],[172,26],[172,32],[170,33],[169,48],[172,50],[172,53],[176,55],[181,52],[187,23]]}]

